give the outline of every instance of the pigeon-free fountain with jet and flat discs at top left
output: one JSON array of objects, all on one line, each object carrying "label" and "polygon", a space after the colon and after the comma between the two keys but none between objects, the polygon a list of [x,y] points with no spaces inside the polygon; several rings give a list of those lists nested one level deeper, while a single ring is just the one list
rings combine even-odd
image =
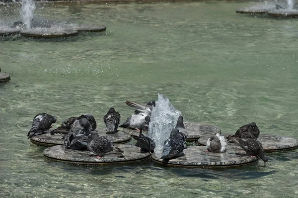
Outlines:
[{"label": "pigeon-free fountain with jet and flat discs at top left", "polygon": [[16,21],[12,25],[0,26],[0,36],[11,36],[20,33],[22,36],[32,38],[66,37],[75,36],[79,31],[101,32],[106,30],[105,26],[74,24],[62,20],[37,19],[34,16],[35,0],[22,0],[21,5],[21,21]]}]

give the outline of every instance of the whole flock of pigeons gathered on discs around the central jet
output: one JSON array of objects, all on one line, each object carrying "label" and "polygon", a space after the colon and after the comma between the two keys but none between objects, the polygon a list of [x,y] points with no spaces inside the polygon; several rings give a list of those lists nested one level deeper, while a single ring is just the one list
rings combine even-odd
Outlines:
[{"label": "whole flock of pigeons gathered on discs around the central jet", "polygon": [[[137,129],[140,131],[136,146],[140,147],[141,153],[153,153],[155,148],[154,141],[142,133],[143,130],[148,130],[151,110],[155,106],[155,100],[149,101],[142,105],[134,101],[126,101],[126,104],[135,108],[127,120],[119,127]],[[120,114],[113,107],[109,109],[103,117],[107,127],[106,134],[115,134],[118,132],[120,123]],[[115,147],[104,136],[99,136],[96,131],[96,121],[91,114],[82,114],[77,117],[70,117],[64,120],[57,129],[50,131],[52,124],[57,121],[55,116],[47,113],[39,113],[33,118],[32,127],[28,132],[28,138],[36,135],[50,133],[64,134],[64,146],[67,149],[87,150],[94,153],[94,157],[114,156],[124,157],[123,151]],[[255,122],[241,126],[235,135],[227,136],[227,142],[233,142],[242,147],[247,154],[261,158],[265,163],[268,161],[262,144],[257,140],[260,134],[259,128]],[[185,141],[187,138],[187,129],[183,123],[183,116],[179,116],[176,127],[172,129],[170,137],[164,142],[162,155],[160,159],[169,160],[175,157],[183,156]],[[206,152],[225,152],[226,141],[224,136],[217,133],[207,141]]]}]

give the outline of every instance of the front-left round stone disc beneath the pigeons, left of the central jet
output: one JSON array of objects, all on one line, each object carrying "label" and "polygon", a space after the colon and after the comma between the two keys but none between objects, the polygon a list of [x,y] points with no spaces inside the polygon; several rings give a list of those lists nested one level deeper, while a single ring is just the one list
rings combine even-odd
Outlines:
[{"label": "front-left round stone disc beneath the pigeons, left of the central jet", "polygon": [[43,152],[44,156],[47,159],[55,161],[63,161],[74,164],[88,164],[88,165],[100,165],[100,164],[117,164],[117,163],[128,163],[134,161],[140,161],[149,158],[149,153],[140,153],[140,147],[117,144],[116,147],[119,147],[124,151],[124,158],[117,157],[102,157],[96,158],[90,155],[94,153],[90,151],[76,151],[72,149],[66,149],[62,145],[53,146],[46,148]]}]

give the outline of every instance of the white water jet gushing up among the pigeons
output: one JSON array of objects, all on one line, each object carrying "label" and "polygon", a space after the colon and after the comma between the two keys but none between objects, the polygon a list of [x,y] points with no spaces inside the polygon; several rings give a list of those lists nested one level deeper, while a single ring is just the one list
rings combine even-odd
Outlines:
[{"label": "white water jet gushing up among the pigeons", "polygon": [[154,140],[155,151],[160,153],[164,141],[169,138],[171,130],[176,126],[181,112],[175,109],[170,100],[158,94],[158,100],[151,111],[148,136]]}]

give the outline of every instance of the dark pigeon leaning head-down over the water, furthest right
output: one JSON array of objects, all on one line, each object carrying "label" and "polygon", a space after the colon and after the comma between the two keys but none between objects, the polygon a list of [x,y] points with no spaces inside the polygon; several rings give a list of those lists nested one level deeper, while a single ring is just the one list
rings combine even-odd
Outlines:
[{"label": "dark pigeon leaning head-down over the water, furthest right", "polygon": [[235,136],[228,136],[235,144],[241,146],[244,151],[250,156],[257,156],[261,158],[264,163],[268,161],[268,157],[263,149],[261,142],[253,138],[239,138]]}]

